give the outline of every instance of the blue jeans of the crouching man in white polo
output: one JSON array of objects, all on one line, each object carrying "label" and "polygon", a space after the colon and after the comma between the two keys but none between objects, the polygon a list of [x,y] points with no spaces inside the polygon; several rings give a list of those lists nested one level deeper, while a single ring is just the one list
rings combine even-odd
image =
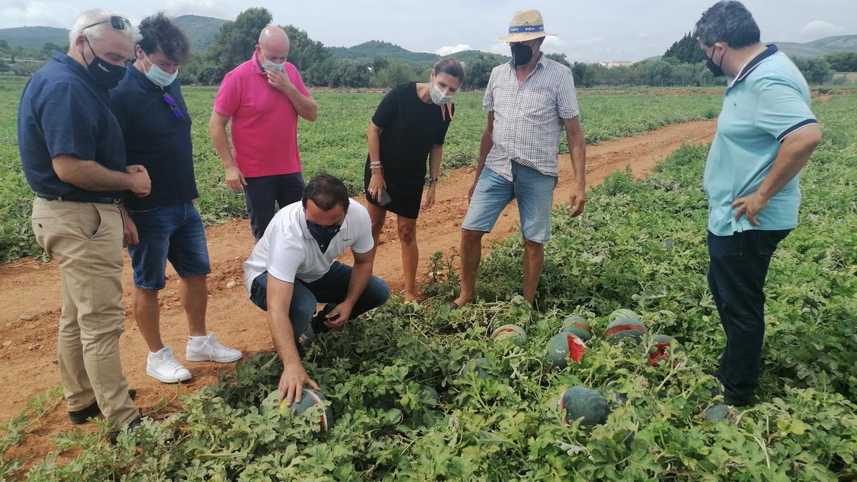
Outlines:
[{"label": "blue jeans of the crouching man in white polo", "polygon": [[[333,262],[327,274],[318,280],[309,283],[295,280],[294,289],[291,293],[289,319],[296,338],[303,334],[309,326],[315,314],[316,305],[319,303],[335,305],[345,300],[345,294],[348,293],[348,285],[351,282],[351,271],[351,266],[337,261]],[[390,287],[381,278],[372,276],[369,278],[366,289],[360,294],[360,298],[357,298],[357,303],[354,304],[349,319],[357,318],[357,316],[387,303],[388,299],[390,299]],[[253,280],[253,285],[250,286],[250,301],[267,311],[267,271],[256,276]],[[327,329],[321,323],[313,324],[315,333],[321,333]]]}]

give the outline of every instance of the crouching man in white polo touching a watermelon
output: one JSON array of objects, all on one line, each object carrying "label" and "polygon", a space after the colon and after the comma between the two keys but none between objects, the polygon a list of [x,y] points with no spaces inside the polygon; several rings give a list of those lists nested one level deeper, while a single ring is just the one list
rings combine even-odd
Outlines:
[{"label": "crouching man in white polo touching a watermelon", "polygon": [[[354,267],[335,261],[351,247]],[[304,385],[318,386],[303,369],[299,337],[338,328],[390,298],[390,288],[372,275],[372,222],[348,189],[328,174],[312,178],[301,202],[279,210],[244,262],[250,301],[267,310],[274,347],[283,360],[279,391],[300,401]],[[315,307],[326,303],[317,316]]]}]

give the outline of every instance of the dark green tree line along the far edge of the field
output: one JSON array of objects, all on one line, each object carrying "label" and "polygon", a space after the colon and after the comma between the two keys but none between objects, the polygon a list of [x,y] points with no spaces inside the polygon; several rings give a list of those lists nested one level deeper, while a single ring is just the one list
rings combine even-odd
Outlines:
[{"label": "dark green tree line along the far edge of the field", "polygon": [[[259,32],[272,21],[273,15],[265,8],[244,10],[235,21],[220,27],[206,51],[197,53],[179,69],[180,80],[184,85],[218,85],[227,72],[252,56]],[[295,64],[310,87],[393,87],[405,81],[427,79],[432,67],[431,63],[390,61],[382,56],[334,57],[330,48],[311,39],[303,29],[293,25],[281,27],[291,39],[289,62]],[[66,51],[68,45],[46,43],[39,49],[27,49],[10,46],[0,39],[0,74],[31,75],[54,49]],[[570,67],[578,87],[722,85],[722,79],[716,79],[705,67],[704,53],[690,33],[670,45],[660,59],[629,66],[608,68],[598,63],[570,62],[566,54],[548,54],[548,57]],[[465,87],[485,87],[491,69],[498,63],[496,58],[478,54],[464,62]],[[793,60],[813,84],[830,82],[834,72],[857,72],[857,52]]]}]

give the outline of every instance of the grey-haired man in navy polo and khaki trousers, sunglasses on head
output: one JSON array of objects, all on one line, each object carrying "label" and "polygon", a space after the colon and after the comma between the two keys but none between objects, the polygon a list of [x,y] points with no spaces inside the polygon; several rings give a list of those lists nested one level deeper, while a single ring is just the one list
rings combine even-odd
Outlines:
[{"label": "grey-haired man in navy polo and khaki trousers, sunglasses on head", "polygon": [[[63,292],[57,355],[73,424],[104,413],[117,429],[139,424],[119,357],[122,215],[126,190],[147,196],[146,169],[126,166],[107,89],[125,75],[135,27],[91,10],[69,33],[69,52],[33,74],[18,106],[18,147],[36,192],[33,232],[57,260]],[[112,438],[115,440],[117,432]]]}]

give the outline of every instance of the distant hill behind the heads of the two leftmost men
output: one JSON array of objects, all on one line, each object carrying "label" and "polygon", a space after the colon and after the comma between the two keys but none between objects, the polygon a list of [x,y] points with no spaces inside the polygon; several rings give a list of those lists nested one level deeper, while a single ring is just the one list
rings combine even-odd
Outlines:
[{"label": "distant hill behind the heads of the two leftmost men", "polygon": [[[200,15],[181,15],[172,20],[188,35],[191,48],[195,52],[206,50],[214,41],[220,26],[227,22]],[[27,48],[40,48],[46,42],[68,45],[69,30],[56,27],[0,28],[0,39],[5,39],[11,46],[21,45]]]}]

